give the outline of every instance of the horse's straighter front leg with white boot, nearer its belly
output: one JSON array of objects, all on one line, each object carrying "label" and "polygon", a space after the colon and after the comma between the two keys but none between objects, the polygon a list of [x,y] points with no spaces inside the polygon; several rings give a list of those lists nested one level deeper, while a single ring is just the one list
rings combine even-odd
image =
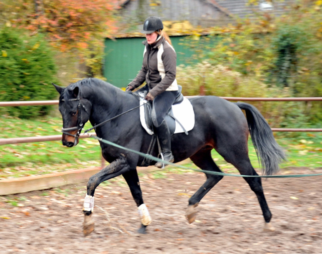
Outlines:
[{"label": "horse's straighter front leg with white boot, nearer its belly", "polygon": [[138,229],[138,233],[145,234],[146,226],[151,223],[151,217],[147,210],[146,205],[143,202],[142,191],[140,188],[140,182],[138,180],[137,171],[131,170],[123,174],[128,187],[130,188],[132,197],[137,205],[138,214],[141,220],[141,227]]}]

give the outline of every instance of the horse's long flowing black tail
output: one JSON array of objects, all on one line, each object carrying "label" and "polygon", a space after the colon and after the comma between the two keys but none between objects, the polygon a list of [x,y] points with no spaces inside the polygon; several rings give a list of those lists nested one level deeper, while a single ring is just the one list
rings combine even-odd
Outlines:
[{"label": "horse's long flowing black tail", "polygon": [[279,170],[279,164],[286,160],[283,149],[276,143],[273,132],[262,114],[253,105],[236,102],[246,111],[250,137],[260,160],[264,175],[273,175]]}]

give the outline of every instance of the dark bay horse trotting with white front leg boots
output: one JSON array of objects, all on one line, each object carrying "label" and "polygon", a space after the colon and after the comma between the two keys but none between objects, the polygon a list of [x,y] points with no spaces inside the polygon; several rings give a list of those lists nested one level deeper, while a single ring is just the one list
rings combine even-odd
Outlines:
[{"label": "dark bay horse trotting with white front leg boots", "polygon": [[[54,85],[60,93],[59,110],[63,117],[64,146],[73,147],[78,143],[78,133],[89,120],[94,126],[122,112],[139,105],[133,94],[124,92],[113,85],[95,78],[83,79],[66,88]],[[272,175],[278,171],[278,165],[285,159],[283,150],[276,143],[268,123],[260,112],[247,103],[232,103],[216,96],[196,96],[189,98],[195,111],[195,126],[185,133],[175,134],[171,138],[175,163],[190,158],[199,168],[221,172],[211,157],[215,149],[227,162],[235,166],[242,175],[257,175],[248,157],[248,134],[260,158],[263,173]],[[246,118],[242,110],[246,111]],[[96,128],[99,138],[120,146],[146,153],[152,136],[142,128],[139,120],[139,108],[123,114]],[[92,212],[94,192],[103,181],[122,175],[127,182],[133,199],[138,207],[141,227],[145,233],[151,219],[142,199],[136,167],[141,165],[143,157],[100,142],[103,157],[109,165],[90,177],[84,201],[85,235],[94,230]],[[153,156],[157,157],[155,147]],[[151,162],[154,165],[155,162]],[[201,199],[223,176],[206,174],[205,183],[189,199],[187,218],[195,220],[196,207]],[[270,224],[272,214],[266,203],[260,178],[244,177],[251,190],[256,194],[265,220],[264,229],[274,230]]]}]

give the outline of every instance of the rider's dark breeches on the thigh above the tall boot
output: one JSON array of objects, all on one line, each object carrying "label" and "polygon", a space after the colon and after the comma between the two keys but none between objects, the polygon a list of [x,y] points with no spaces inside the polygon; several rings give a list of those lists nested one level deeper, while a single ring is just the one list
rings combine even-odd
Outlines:
[{"label": "rider's dark breeches on the thigh above the tall boot", "polygon": [[166,114],[174,103],[178,91],[164,91],[152,101],[152,121],[157,128],[165,119]]}]

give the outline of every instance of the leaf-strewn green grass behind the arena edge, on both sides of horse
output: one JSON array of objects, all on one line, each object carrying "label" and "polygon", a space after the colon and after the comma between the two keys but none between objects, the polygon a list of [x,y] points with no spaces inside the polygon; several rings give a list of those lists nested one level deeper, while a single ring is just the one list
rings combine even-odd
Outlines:
[{"label": "leaf-strewn green grass behind the arena edge, on both sides of horse", "polygon": [[[61,135],[60,117],[22,120],[0,116],[0,122],[1,138]],[[85,128],[90,128],[90,123],[87,123]],[[322,168],[322,133],[302,133],[293,138],[284,138],[283,134],[276,134],[276,140],[286,150],[288,157],[288,161],[284,162],[281,168]],[[212,155],[224,172],[237,172],[215,151]],[[251,141],[249,141],[249,157],[254,168],[258,169],[258,160]],[[60,141],[3,145],[0,146],[0,179],[100,166],[100,158],[100,147],[98,141],[94,139],[82,139],[73,148],[62,146]],[[185,166],[197,168],[192,163]],[[167,172],[172,171],[186,172],[183,169],[167,167],[167,170],[157,171],[152,175],[154,178],[164,178]]]}]

